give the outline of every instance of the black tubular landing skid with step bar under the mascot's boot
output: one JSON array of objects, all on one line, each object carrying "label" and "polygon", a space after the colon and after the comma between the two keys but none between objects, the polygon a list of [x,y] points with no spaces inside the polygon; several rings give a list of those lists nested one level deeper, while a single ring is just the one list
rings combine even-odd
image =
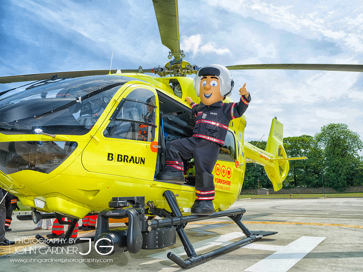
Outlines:
[{"label": "black tubular landing skid with step bar under the mascot's boot", "polygon": [[[235,250],[241,246],[244,246],[249,243],[253,243],[258,239],[262,238],[262,235],[254,235],[252,232],[246,228],[246,226],[240,221],[242,215],[245,213],[245,209],[235,209],[229,211],[219,211],[215,212],[211,215],[187,215],[182,216],[181,211],[179,209],[178,202],[176,201],[176,197],[172,191],[165,191],[163,196],[166,198],[170,209],[172,210],[174,217],[172,218],[164,218],[164,219],[152,219],[147,222],[151,228],[159,228],[163,226],[179,226],[176,231],[179,235],[181,243],[184,246],[184,250],[187,253],[188,258],[186,260],[182,260],[180,257],[176,256],[174,253],[169,252],[167,257],[168,259],[174,261],[174,263],[178,264],[181,268],[187,269],[194,267],[198,264],[204,263],[205,261],[211,260],[215,257],[218,257],[222,254],[225,254],[229,251]],[[188,222],[201,221],[209,218],[223,217],[228,216],[231,218],[238,227],[241,228],[242,232],[247,236],[247,238],[242,239],[238,242],[234,242],[228,244],[227,246],[223,246],[207,252],[205,254],[197,255],[192,244],[190,243],[187,235],[185,234],[184,227]]]}]

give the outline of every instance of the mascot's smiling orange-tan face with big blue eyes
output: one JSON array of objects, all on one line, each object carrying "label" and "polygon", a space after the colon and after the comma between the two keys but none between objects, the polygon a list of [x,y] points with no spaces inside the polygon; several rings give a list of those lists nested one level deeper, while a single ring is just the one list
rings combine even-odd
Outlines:
[{"label": "mascot's smiling orange-tan face with big blue eyes", "polygon": [[207,75],[201,78],[199,97],[200,101],[207,106],[223,100],[220,92],[220,82],[216,76]]}]

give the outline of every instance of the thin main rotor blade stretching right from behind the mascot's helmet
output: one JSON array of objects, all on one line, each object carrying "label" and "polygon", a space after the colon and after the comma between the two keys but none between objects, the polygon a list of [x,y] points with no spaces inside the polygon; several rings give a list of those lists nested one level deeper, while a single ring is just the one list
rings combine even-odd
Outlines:
[{"label": "thin main rotor blade stretching right from behind the mascot's helmet", "polygon": [[255,70],[255,69],[281,69],[281,70],[322,70],[363,72],[361,64],[314,64],[314,63],[270,63],[270,64],[242,64],[227,66],[228,70]]}]

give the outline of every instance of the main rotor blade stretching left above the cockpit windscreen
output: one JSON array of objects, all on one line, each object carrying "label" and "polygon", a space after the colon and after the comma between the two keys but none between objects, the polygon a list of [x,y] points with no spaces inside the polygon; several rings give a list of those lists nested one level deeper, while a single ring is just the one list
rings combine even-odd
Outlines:
[{"label": "main rotor blade stretching left above the cockpit windscreen", "polygon": [[[74,72],[57,72],[57,73],[45,73],[45,74],[32,74],[32,75],[12,75],[9,77],[0,77],[0,83],[12,83],[22,81],[36,81],[44,78],[52,77],[57,74],[58,77],[86,77],[89,75],[107,75],[110,70],[91,70],[91,71],[74,71]],[[117,70],[111,70],[111,74],[115,74]],[[121,73],[137,73],[137,69],[121,70]]]}]

